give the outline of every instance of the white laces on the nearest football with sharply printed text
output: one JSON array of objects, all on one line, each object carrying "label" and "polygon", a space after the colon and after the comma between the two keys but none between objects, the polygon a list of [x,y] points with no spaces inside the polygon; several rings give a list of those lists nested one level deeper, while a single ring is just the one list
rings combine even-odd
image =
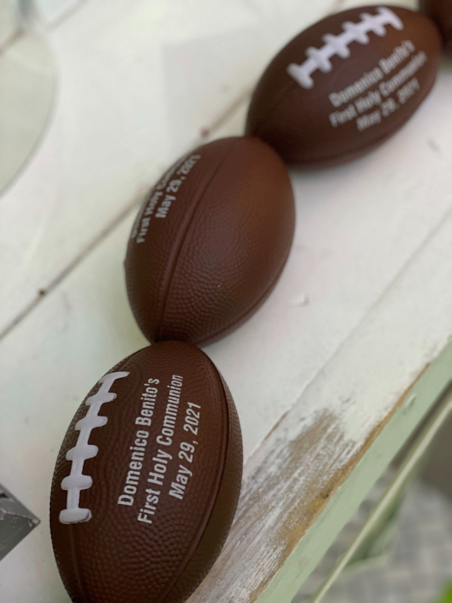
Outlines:
[{"label": "white laces on the nearest football with sharply printed text", "polygon": [[66,460],[72,461],[71,473],[61,482],[61,488],[67,490],[66,509],[60,513],[61,523],[79,523],[88,522],[91,519],[89,509],[81,509],[80,491],[90,488],[93,479],[89,475],[83,475],[83,464],[86,459],[93,458],[99,452],[97,446],[88,444],[92,430],[96,427],[102,427],[107,423],[107,417],[99,417],[98,413],[102,404],[115,400],[116,394],[110,392],[110,387],[116,379],[127,377],[129,373],[110,373],[99,379],[101,387],[99,391],[87,398],[85,404],[89,406],[86,416],[75,424],[76,431],[80,431],[77,444],[66,453]]}]

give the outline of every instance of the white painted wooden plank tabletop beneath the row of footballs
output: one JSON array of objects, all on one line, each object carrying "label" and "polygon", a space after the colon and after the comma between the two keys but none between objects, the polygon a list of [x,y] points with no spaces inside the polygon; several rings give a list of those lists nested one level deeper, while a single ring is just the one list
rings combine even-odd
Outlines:
[{"label": "white painted wooden plank tabletop beneath the row of footballs", "polygon": [[[52,30],[60,97],[51,128],[0,198],[0,482],[42,519],[0,564],[2,602],[69,601],[49,540],[51,476],[87,391],[146,345],[122,271],[137,198],[201,128],[239,134],[246,90],[268,58],[350,4],[88,0]],[[451,93],[444,65],[424,106],[383,147],[292,174],[297,234],[283,277],[248,323],[206,349],[236,400],[247,463],[233,533],[193,603],[254,601],[270,578],[262,596],[290,600],[297,584],[281,571],[293,576],[301,561],[284,558],[278,529],[341,475],[450,339]],[[322,416],[325,433],[308,438],[303,461],[278,481],[288,475],[286,444]],[[333,517],[335,528],[344,517]],[[300,575],[334,537],[319,533]],[[283,583],[287,599],[278,598]]]}]

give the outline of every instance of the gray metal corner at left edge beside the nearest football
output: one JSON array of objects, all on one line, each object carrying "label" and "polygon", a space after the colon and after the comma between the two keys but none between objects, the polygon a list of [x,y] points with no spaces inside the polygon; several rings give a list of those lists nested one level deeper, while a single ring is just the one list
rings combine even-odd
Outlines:
[{"label": "gray metal corner at left edge beside the nearest football", "polygon": [[38,524],[39,519],[0,484],[0,561]]}]

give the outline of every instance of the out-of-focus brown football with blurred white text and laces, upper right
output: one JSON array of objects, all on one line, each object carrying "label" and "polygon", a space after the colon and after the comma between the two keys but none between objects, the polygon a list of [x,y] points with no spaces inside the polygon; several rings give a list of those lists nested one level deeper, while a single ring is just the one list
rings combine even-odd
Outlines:
[{"label": "out-of-focus brown football with blurred white text and laces, upper right", "polygon": [[287,163],[334,165],[393,134],[433,86],[439,31],[423,14],[370,6],[329,16],[281,50],[251,99],[246,133]]}]

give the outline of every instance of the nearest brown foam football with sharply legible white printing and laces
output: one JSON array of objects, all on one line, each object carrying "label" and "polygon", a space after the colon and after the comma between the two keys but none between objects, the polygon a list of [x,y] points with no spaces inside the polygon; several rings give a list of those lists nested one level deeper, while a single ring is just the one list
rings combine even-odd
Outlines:
[{"label": "nearest brown foam football with sharply legible white printing and laces", "polygon": [[72,601],[185,601],[221,551],[241,475],[236,409],[201,350],[166,341],[120,362],[55,466],[52,543]]}]

